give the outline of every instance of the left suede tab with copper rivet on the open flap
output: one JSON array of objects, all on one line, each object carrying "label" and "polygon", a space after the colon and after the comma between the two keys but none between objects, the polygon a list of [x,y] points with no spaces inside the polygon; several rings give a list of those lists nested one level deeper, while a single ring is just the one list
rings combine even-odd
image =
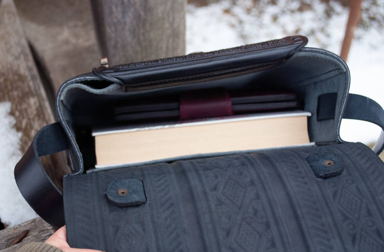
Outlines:
[{"label": "left suede tab with copper rivet on the open flap", "polygon": [[147,202],[143,182],[139,179],[115,180],[105,193],[109,202],[119,207],[137,206]]}]

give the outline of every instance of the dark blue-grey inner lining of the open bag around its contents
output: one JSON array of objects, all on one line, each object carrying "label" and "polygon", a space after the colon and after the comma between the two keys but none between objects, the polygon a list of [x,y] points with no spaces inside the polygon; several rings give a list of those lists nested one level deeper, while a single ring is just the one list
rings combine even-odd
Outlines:
[{"label": "dark blue-grey inner lining of the open bag around its contents", "polygon": [[[284,64],[266,70],[222,80],[176,84],[178,83],[175,83],[175,86],[131,92],[123,92],[118,84],[106,86],[105,81],[97,81],[97,78],[81,81],[81,83],[70,83],[67,86],[64,84],[63,90],[58,93],[59,119],[61,123],[69,126],[76,141],[79,141],[81,137],[79,133],[82,130],[89,130],[91,126],[110,120],[110,109],[116,101],[129,99],[132,96],[135,99],[150,99],[164,94],[179,94],[186,90],[213,87],[260,91],[280,89],[295,92],[299,100],[304,101],[303,109],[312,113],[308,119],[310,141],[340,142],[339,121],[349,90],[349,71],[338,56],[326,51],[303,48]],[[335,118],[318,121],[317,100],[318,96],[324,93],[338,93]],[[72,147],[79,146],[73,143]],[[89,149],[92,149],[91,143]],[[84,158],[90,155],[88,151],[82,152]],[[82,170],[82,162],[79,162],[79,166],[76,170]]]}]

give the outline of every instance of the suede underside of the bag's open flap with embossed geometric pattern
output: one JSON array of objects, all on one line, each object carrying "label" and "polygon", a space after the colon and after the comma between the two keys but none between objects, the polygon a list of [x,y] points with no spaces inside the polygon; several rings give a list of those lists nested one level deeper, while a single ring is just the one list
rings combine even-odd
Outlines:
[{"label": "suede underside of the bag's open flap with embossed geometric pattern", "polygon": [[[306,159],[319,153],[341,159],[343,171],[316,177]],[[109,202],[104,192],[116,179],[141,180],[147,202]],[[383,163],[361,143],[64,178],[68,243],[108,252],[383,251],[383,195]]]}]

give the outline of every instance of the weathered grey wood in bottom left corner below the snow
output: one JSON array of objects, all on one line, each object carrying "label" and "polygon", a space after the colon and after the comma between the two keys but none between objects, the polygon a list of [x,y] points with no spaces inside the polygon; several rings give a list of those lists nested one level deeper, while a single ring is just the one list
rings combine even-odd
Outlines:
[{"label": "weathered grey wood in bottom left corner below the snow", "polygon": [[[25,232],[25,230],[28,230],[28,234],[21,240],[21,242],[9,246],[12,241],[14,241],[18,235]],[[43,242],[55,231],[56,229],[54,227],[41,218],[35,218],[20,225],[0,230],[0,252],[17,251],[28,242]]]}]

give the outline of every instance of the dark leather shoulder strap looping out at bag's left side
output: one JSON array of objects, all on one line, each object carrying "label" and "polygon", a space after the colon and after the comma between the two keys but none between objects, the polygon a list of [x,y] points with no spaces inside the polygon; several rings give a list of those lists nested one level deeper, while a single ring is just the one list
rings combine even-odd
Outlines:
[{"label": "dark leather shoulder strap looping out at bag's left side", "polygon": [[25,200],[49,224],[65,224],[63,194],[45,172],[39,157],[68,149],[60,123],[41,128],[33,142],[15,166],[15,180]]}]

